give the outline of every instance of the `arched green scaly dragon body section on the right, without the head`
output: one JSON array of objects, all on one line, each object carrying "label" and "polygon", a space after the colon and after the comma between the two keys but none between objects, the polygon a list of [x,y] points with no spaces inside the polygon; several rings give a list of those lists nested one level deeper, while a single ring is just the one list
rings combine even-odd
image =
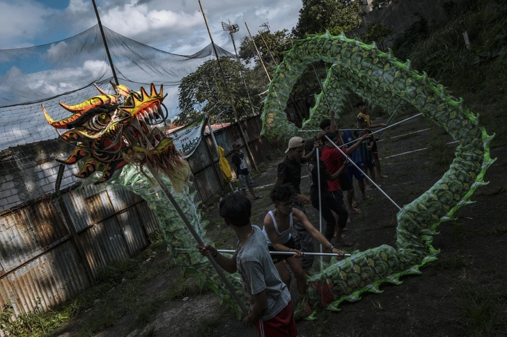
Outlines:
[{"label": "arched green scaly dragon body section on the right, without the head", "polygon": [[[375,43],[363,44],[345,38],[343,33],[332,36],[327,32],[296,41],[277,67],[261,116],[263,134],[268,138],[286,140],[298,134],[297,127],[287,121],[286,102],[304,69],[318,61],[331,65],[323,86],[336,111],[341,110],[339,101],[345,90],[391,110],[405,101],[460,143],[442,179],[396,215],[396,247],[382,245],[355,252],[343,261],[331,261],[322,273],[309,278],[309,302],[337,310],[342,301],[357,301],[365,291],[382,293],[378,287],[384,282],[399,284],[404,274],[419,274],[422,265],[437,258],[432,237],[439,224],[452,220],[460,207],[471,203],[476,188],[485,185],[485,171],[494,163],[490,158],[494,135],[487,135],[478,116],[462,99],[448,95],[444,85],[426,73],[411,69],[409,60],[402,63],[390,49],[384,53]],[[318,95],[304,126],[315,127],[327,115],[323,94]]]}]

